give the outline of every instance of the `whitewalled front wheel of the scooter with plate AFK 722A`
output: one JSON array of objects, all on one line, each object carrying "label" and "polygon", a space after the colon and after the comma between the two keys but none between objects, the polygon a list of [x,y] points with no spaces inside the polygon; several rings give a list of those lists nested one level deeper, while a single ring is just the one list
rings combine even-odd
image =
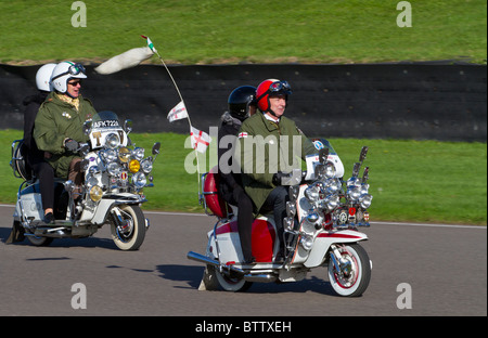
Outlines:
[{"label": "whitewalled front wheel of the scooter with plate AFK 722A", "polygon": [[121,231],[111,218],[112,239],[120,250],[137,250],[144,242],[145,219],[139,206],[120,205],[114,208],[120,210],[128,229]]}]

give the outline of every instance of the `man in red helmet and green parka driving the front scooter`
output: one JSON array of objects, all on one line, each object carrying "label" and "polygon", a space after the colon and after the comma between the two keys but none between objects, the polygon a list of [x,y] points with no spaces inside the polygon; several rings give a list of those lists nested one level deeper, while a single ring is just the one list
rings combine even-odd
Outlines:
[{"label": "man in red helmet and green parka driving the front scooter", "polygon": [[316,153],[295,122],[283,116],[291,93],[286,81],[262,81],[256,90],[257,106],[262,114],[247,118],[239,132],[245,192],[253,199],[255,212],[273,213],[282,253],[285,253],[283,218],[288,200],[288,188],[281,185],[282,178],[300,167],[294,160],[296,156],[305,160],[306,155]]}]

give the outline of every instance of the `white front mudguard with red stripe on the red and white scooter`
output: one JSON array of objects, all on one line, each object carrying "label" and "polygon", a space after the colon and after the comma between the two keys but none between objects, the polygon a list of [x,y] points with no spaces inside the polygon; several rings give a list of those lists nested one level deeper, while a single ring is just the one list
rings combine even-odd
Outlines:
[{"label": "white front mudguard with red stripe on the red and white scooter", "polygon": [[367,239],[368,236],[365,234],[351,230],[321,232],[317,235],[313,247],[304,265],[307,268],[320,265],[329,248],[334,243],[356,243]]}]

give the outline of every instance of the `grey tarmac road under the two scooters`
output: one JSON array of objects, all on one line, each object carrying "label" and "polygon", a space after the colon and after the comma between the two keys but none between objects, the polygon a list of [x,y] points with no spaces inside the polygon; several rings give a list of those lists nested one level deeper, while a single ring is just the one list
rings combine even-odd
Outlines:
[{"label": "grey tarmac road under the two scooters", "polygon": [[[204,252],[211,217],[145,212],[151,227],[144,244],[125,252],[107,226],[91,238],[55,239],[49,247],[5,245],[12,213],[12,206],[0,206],[2,316],[487,315],[486,226],[373,223],[362,244],[373,261],[370,286],[362,297],[342,298],[323,268],[298,283],[198,291],[204,266],[187,252]],[[86,288],[86,309],[72,307],[82,304],[77,283]],[[408,300],[411,309],[399,309]]]}]

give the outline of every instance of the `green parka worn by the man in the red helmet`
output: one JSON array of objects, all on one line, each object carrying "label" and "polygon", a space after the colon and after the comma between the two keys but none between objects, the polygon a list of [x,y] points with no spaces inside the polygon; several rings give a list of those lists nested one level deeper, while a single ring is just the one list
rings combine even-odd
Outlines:
[{"label": "green parka worn by the man in the red helmet", "polygon": [[301,168],[300,159],[317,153],[311,141],[285,116],[277,123],[256,113],[242,123],[237,138],[242,181],[255,212],[260,210],[275,187],[272,182],[274,173]]}]

